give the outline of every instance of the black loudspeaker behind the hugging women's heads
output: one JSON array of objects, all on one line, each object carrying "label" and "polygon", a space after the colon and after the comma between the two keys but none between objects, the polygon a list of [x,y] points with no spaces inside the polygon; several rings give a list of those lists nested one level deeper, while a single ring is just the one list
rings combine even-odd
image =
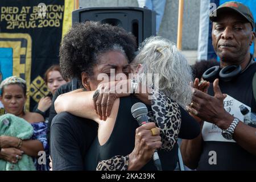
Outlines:
[{"label": "black loudspeaker behind the hugging women's heads", "polygon": [[155,11],[141,7],[89,7],[72,12],[72,24],[87,20],[123,27],[137,38],[137,46],[156,35]]}]

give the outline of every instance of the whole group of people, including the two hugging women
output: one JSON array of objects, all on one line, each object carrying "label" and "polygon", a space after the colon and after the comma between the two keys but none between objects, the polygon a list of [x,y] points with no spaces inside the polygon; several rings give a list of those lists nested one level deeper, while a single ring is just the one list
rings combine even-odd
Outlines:
[{"label": "whole group of people, including the two hugging women", "polygon": [[[137,50],[121,27],[74,24],[61,42],[60,65],[46,71],[50,94],[32,112],[24,110],[26,81],[1,82],[0,170],[157,170],[156,150],[161,168],[175,170],[179,148],[190,169],[256,170],[256,125],[243,122],[240,110],[256,113],[254,18],[238,2],[214,15],[220,61],[192,67],[160,36]],[[138,102],[145,106],[134,118]]]}]

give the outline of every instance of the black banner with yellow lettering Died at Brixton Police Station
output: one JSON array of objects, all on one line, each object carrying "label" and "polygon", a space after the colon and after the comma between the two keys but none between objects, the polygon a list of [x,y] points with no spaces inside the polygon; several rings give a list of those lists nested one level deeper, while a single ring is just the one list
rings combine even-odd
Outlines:
[{"label": "black banner with yellow lettering Died at Brixton Police Station", "polygon": [[26,110],[48,94],[44,72],[59,64],[61,38],[71,27],[73,0],[1,0],[0,69],[27,81]]}]

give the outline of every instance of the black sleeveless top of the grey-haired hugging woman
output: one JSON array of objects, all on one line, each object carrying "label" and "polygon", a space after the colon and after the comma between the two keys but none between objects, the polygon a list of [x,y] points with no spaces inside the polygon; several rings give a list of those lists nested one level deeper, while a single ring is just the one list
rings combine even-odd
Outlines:
[{"label": "black sleeveless top of the grey-haired hugging woman", "polygon": [[[112,134],[108,141],[100,146],[98,137],[94,139],[89,151],[85,156],[85,170],[96,170],[98,162],[108,160],[115,155],[126,156],[130,154],[135,145],[135,130],[139,127],[138,122],[131,115],[131,106],[136,102],[141,102],[137,98],[122,97],[117,114],[117,119],[114,124]],[[151,106],[148,106],[148,111],[151,111]],[[162,163],[163,170],[174,170],[178,161],[177,144],[171,151],[158,150],[159,158]],[[151,159],[141,170],[156,170],[154,162]]]}]

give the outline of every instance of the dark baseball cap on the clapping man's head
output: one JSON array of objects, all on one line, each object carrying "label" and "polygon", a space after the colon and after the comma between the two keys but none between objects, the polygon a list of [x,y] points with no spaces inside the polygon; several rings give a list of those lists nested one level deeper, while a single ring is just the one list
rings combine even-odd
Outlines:
[{"label": "dark baseball cap on the clapping man's head", "polygon": [[238,14],[242,15],[254,29],[255,22],[251,10],[249,9],[249,7],[236,1],[225,2],[222,5],[218,6],[218,8],[212,11],[212,13],[210,14],[210,20],[212,20],[212,22],[215,22],[218,14],[224,13],[225,11],[236,11]]}]

